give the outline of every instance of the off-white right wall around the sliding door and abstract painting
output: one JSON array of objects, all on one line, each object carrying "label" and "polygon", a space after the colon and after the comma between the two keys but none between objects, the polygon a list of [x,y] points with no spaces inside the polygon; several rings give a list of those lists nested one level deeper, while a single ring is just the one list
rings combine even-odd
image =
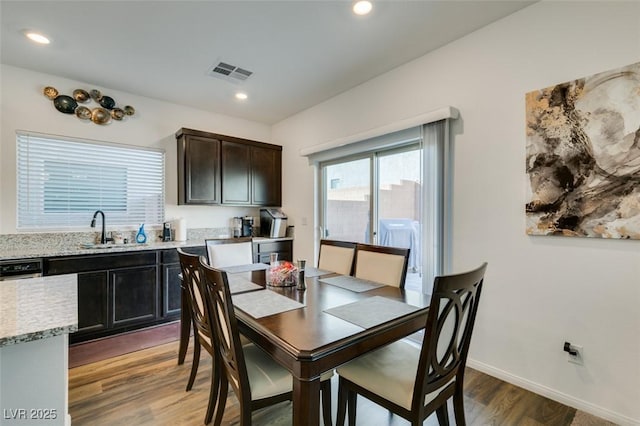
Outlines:
[{"label": "off-white right wall around the sliding door and abstract painting", "polygon": [[295,256],[313,258],[301,148],[454,106],[453,269],[489,262],[470,365],[640,424],[640,241],[530,237],[524,217],[525,93],[639,60],[640,3],[542,2],[278,123]]}]

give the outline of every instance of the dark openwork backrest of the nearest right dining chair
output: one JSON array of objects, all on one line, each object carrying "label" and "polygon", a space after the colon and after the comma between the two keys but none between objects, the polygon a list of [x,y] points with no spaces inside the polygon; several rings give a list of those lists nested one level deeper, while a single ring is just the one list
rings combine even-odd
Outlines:
[{"label": "dark openwork backrest of the nearest right dining chair", "polygon": [[435,278],[414,387],[413,407],[425,395],[463,380],[471,332],[487,264],[473,271]]}]

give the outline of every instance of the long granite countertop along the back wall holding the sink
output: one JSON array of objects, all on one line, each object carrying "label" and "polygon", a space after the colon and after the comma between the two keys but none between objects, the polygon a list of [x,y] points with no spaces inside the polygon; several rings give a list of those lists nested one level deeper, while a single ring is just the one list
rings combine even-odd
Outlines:
[{"label": "long granite countertop along the back wall holding the sink", "polygon": [[[228,239],[228,238],[221,238]],[[255,242],[269,242],[269,241],[285,241],[292,240],[290,237],[283,238],[268,238],[268,237],[254,237]],[[203,239],[187,240],[187,241],[169,241],[169,242],[152,242],[146,244],[109,244],[107,247],[94,247],[86,246],[82,244],[71,244],[67,247],[47,247],[46,245],[37,248],[7,248],[0,247],[0,260],[8,259],[27,259],[36,257],[54,257],[54,256],[77,256],[83,254],[108,254],[108,253],[120,253],[130,251],[142,251],[142,250],[162,250],[172,249],[178,247],[196,247],[204,246]]]}]

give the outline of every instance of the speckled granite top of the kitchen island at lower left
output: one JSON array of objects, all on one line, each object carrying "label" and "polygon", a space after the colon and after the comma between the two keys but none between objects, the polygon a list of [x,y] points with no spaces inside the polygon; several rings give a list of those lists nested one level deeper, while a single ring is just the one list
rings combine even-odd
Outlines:
[{"label": "speckled granite top of the kitchen island at lower left", "polygon": [[0,347],[78,329],[76,274],[0,281]]}]

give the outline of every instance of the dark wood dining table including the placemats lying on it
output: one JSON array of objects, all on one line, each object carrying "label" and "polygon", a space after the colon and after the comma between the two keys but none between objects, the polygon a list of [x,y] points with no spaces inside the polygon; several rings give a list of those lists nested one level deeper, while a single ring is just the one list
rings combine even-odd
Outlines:
[{"label": "dark wood dining table including the placemats lying on it", "polygon": [[[268,286],[264,270],[228,277],[240,332],[293,376],[296,426],[319,425],[322,373],[423,329],[430,302],[420,292],[333,273],[307,276],[304,290]],[[249,281],[257,286],[234,292]]]}]

